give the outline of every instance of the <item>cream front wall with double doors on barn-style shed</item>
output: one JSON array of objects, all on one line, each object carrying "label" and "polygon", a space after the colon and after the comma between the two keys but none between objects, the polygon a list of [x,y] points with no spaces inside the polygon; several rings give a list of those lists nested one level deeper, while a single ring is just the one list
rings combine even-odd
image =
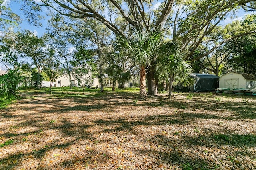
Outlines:
[{"label": "cream front wall with double doors on barn-style shed", "polygon": [[234,88],[246,89],[246,80],[241,74],[230,72],[220,77],[219,87],[230,88],[230,89],[234,89]]}]

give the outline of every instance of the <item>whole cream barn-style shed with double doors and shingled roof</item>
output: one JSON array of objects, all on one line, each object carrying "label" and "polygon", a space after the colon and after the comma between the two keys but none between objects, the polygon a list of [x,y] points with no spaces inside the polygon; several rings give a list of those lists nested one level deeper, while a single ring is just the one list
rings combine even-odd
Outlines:
[{"label": "whole cream barn-style shed with double doors and shingled roof", "polygon": [[229,72],[220,77],[219,88],[256,90],[256,76],[246,73]]}]

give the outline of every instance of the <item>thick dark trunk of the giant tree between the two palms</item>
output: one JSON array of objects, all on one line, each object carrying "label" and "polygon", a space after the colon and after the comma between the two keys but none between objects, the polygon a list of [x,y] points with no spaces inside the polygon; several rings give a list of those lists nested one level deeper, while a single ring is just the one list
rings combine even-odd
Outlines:
[{"label": "thick dark trunk of the giant tree between the two palms", "polygon": [[148,95],[156,95],[157,94],[157,86],[154,78],[154,74],[156,73],[156,63],[152,61],[150,66],[148,67],[147,72],[147,80],[148,80]]}]

